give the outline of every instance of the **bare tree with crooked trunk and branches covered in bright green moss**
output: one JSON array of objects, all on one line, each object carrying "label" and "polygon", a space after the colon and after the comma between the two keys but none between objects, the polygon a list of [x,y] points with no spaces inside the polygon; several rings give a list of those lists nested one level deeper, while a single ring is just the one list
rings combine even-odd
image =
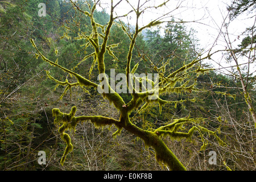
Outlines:
[{"label": "bare tree with crooked trunk and branches covered in bright green moss", "polygon": [[[70,2],[72,3],[77,13],[82,13],[84,14],[84,16],[89,17],[91,26],[90,32],[82,32],[81,30],[76,31],[66,26],[66,28],[71,31],[72,34],[77,34],[77,37],[75,38],[76,40],[84,39],[86,41],[86,44],[84,44],[85,49],[89,46],[93,48],[93,51],[89,52],[88,55],[86,55],[84,59],[80,61],[77,67],[79,67],[80,64],[82,64],[87,59],[92,60],[92,69],[90,69],[90,73],[92,73],[93,68],[97,65],[98,74],[101,74],[100,84],[97,84],[97,82],[90,80],[89,76],[88,78],[86,78],[85,76],[82,76],[81,74],[75,72],[76,69],[65,68],[63,65],[58,64],[57,60],[52,61],[47,59],[47,57],[45,57],[44,54],[36,46],[36,42],[31,39],[32,46],[34,46],[37,52],[36,57],[42,57],[44,61],[51,64],[53,67],[57,67],[62,71],[69,73],[71,77],[76,78],[76,82],[71,82],[70,80],[68,80],[68,78],[65,81],[59,81],[52,77],[49,72],[47,72],[48,77],[57,82],[58,85],[66,86],[65,91],[60,96],[60,98],[63,97],[63,95],[68,92],[68,90],[70,90],[71,92],[73,86],[80,86],[82,89],[85,90],[85,92],[89,92],[88,90],[90,90],[90,88],[94,88],[96,90],[103,89],[106,92],[103,92],[102,96],[109,100],[110,103],[112,103],[117,108],[117,110],[119,111],[119,119],[104,117],[102,115],[76,116],[76,106],[73,106],[71,108],[70,113],[63,113],[60,111],[60,109],[57,108],[53,109],[52,114],[53,117],[55,117],[54,122],[61,125],[59,127],[59,133],[61,138],[67,144],[67,147],[65,148],[63,154],[63,158],[60,161],[62,165],[64,164],[65,158],[68,153],[71,152],[73,149],[71,138],[67,133],[65,133],[65,131],[71,129],[75,130],[78,122],[90,121],[96,127],[114,125],[115,127],[117,127],[117,131],[115,131],[113,137],[116,137],[119,133],[122,132],[123,129],[129,131],[130,133],[141,138],[147,147],[154,148],[155,157],[159,164],[168,166],[168,168],[170,168],[171,170],[185,170],[186,168],[179,161],[179,159],[176,158],[175,154],[170,150],[170,148],[168,148],[167,145],[164,143],[163,138],[166,136],[170,137],[171,139],[185,138],[191,140],[192,134],[197,131],[197,133],[199,133],[199,137],[201,137],[201,140],[203,142],[203,146],[201,147],[201,149],[204,149],[207,146],[207,142],[205,142],[203,136],[204,133],[213,135],[221,145],[225,144],[217,136],[216,131],[210,131],[207,128],[200,126],[200,123],[202,121],[205,121],[205,118],[191,118],[188,115],[185,118],[178,118],[174,120],[170,119],[170,121],[166,123],[166,125],[160,126],[156,129],[148,130],[142,129],[142,127],[139,127],[139,125],[137,126],[136,123],[133,122],[130,118],[130,115],[133,111],[142,111],[152,103],[159,104],[159,112],[161,112],[163,105],[166,104],[170,104],[171,106],[175,107],[177,104],[182,104],[184,102],[196,102],[196,98],[188,98],[187,100],[179,101],[168,101],[164,100],[160,96],[170,93],[208,92],[208,90],[199,89],[196,87],[196,77],[209,71],[209,69],[204,69],[201,67],[201,61],[203,59],[207,59],[208,57],[210,57],[210,55],[203,58],[201,57],[201,55],[198,55],[193,60],[185,61],[183,66],[171,72],[168,72],[166,70],[166,66],[170,63],[171,57],[168,57],[167,59],[162,59],[160,61],[152,61],[147,55],[140,55],[140,59],[145,60],[148,65],[150,65],[154,73],[157,73],[156,75],[158,75],[159,81],[156,81],[156,78],[139,78],[136,76],[131,77],[131,74],[136,72],[140,63],[139,61],[137,61],[137,63],[132,63],[134,61],[132,59],[134,56],[133,51],[136,46],[136,40],[138,36],[141,34],[142,30],[158,26],[159,24],[164,23],[164,21],[161,19],[156,19],[152,20],[146,26],[139,27],[138,19],[143,14],[144,10],[148,9],[149,7],[146,7],[145,4],[140,4],[139,1],[137,7],[134,7],[129,3],[129,1],[127,1],[127,5],[132,8],[131,12],[135,13],[137,18],[135,30],[133,32],[130,32],[129,30],[127,30],[125,24],[122,23],[121,20],[119,20],[119,18],[127,15],[119,16],[114,13],[114,9],[119,6],[122,0],[118,1],[116,4],[111,1],[110,18],[107,24],[100,24],[94,18],[96,6],[99,4],[100,1],[95,1],[94,5],[92,5],[92,3],[88,3],[87,5],[89,7],[89,10],[82,9],[81,7],[77,6],[76,2],[74,1]],[[155,6],[154,8],[157,9],[158,7],[164,5],[166,5],[166,3],[162,3],[159,6]],[[106,80],[108,80],[108,77],[106,75],[107,71],[105,67],[105,57],[108,55],[113,57],[114,60],[118,60],[118,57],[115,56],[115,53],[113,51],[115,47],[118,47],[118,44],[111,44],[109,42],[110,31],[112,31],[113,24],[117,24],[119,27],[121,27],[122,31],[125,32],[125,35],[130,40],[125,69],[126,84],[129,88],[129,92],[131,93],[131,100],[129,102],[125,102],[121,97],[121,94],[118,94],[112,88],[112,86],[110,86],[110,84],[106,82]],[[71,38],[67,34],[65,34],[65,36]],[[155,64],[159,62],[161,63],[161,65]],[[131,65],[134,65],[134,67],[131,68]],[[134,85],[129,84],[131,79],[133,79],[133,81],[140,82],[139,90],[138,88],[135,88]],[[143,81],[146,81],[148,84],[152,84],[152,88],[143,88]]]}]

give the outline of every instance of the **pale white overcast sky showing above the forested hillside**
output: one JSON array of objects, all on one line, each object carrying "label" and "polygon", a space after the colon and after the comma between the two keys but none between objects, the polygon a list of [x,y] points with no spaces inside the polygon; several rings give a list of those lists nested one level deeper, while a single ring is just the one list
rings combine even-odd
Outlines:
[{"label": "pale white overcast sky showing above the forested hillside", "polygon": [[[141,4],[146,0],[141,0]],[[139,19],[139,25],[142,27],[149,23],[151,20],[154,20],[163,14],[166,14],[171,11],[170,15],[167,16],[164,20],[175,20],[182,19],[183,21],[193,22],[186,23],[185,25],[188,28],[193,28],[197,31],[196,37],[200,40],[201,48],[208,51],[212,46],[214,50],[225,49],[226,43],[223,38],[218,38],[220,27],[224,22],[224,18],[228,15],[226,10],[227,5],[230,4],[232,0],[171,0],[166,4],[166,6],[160,7],[159,9],[148,9],[146,10],[141,18]],[[115,3],[119,0],[114,0]],[[138,0],[130,0],[130,3],[134,7],[138,6]],[[160,5],[164,0],[151,0],[148,1],[144,7],[148,6],[157,6]],[[178,7],[176,9],[176,7]],[[110,13],[110,0],[101,0],[101,7],[106,8],[106,11]],[[101,10],[101,8],[99,8]],[[131,6],[123,0],[115,9],[115,12],[118,15],[125,15],[131,10]],[[130,24],[135,24],[136,18],[135,13],[129,14],[126,18],[122,19],[124,22],[129,21]],[[229,25],[229,34],[230,40],[233,44],[233,48],[237,47],[237,44],[241,43],[242,38],[238,40],[238,35],[240,35],[247,27],[251,27],[255,20],[255,16],[251,19],[248,19],[247,15],[238,16],[237,19],[233,20]],[[224,29],[225,30],[225,29]],[[218,41],[215,40],[218,38]],[[236,42],[235,42],[236,41]],[[220,63],[222,67],[227,67],[229,65],[225,64],[225,60],[221,53],[216,54],[212,57],[216,63]],[[220,68],[220,65],[211,62],[215,68]],[[251,67],[251,69],[256,69]],[[224,71],[224,70],[222,70]],[[253,70],[254,71],[254,70]]]}]

